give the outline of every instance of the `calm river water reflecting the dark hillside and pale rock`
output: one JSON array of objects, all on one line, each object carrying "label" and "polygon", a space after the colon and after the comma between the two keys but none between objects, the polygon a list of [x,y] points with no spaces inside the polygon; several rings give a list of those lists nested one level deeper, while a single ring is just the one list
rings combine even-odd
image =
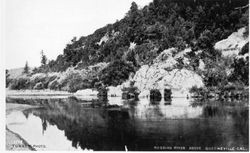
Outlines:
[{"label": "calm river water reflecting the dark hillside and pale rock", "polygon": [[7,98],[6,126],[36,150],[249,150],[248,100]]}]

